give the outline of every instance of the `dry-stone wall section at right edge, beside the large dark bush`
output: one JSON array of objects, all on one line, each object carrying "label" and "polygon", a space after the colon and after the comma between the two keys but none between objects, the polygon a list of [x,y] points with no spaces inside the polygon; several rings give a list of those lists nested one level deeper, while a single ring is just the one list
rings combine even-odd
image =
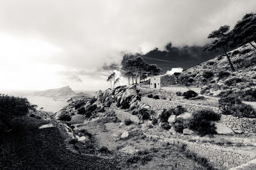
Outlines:
[{"label": "dry-stone wall section at right edge, beside the large dark bush", "polygon": [[237,134],[256,133],[256,118],[238,118],[231,115],[222,115],[220,121]]}]

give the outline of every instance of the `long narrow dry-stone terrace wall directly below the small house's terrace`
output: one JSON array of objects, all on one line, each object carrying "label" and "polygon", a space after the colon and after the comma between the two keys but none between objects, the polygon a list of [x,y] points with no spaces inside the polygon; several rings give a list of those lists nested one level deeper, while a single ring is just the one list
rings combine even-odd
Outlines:
[{"label": "long narrow dry-stone terrace wall directly below the small house's terrace", "polygon": [[153,109],[168,109],[170,107],[177,107],[177,105],[182,105],[184,108],[187,109],[188,112],[193,112],[198,109],[212,109],[213,111],[218,112],[218,107],[210,107],[205,105],[195,105],[195,104],[186,104],[181,102],[173,102],[170,100],[161,100],[161,99],[154,99],[154,98],[148,98],[148,97],[141,97],[141,102],[150,105]]}]

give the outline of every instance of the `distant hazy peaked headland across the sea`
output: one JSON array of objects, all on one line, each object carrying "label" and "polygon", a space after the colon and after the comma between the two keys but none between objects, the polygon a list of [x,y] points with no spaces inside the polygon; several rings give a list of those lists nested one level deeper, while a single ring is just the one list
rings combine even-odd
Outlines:
[{"label": "distant hazy peaked headland across the sea", "polygon": [[35,92],[34,95],[40,96],[40,97],[67,97],[76,95],[76,93],[69,87],[65,86],[63,88],[58,89],[47,89],[45,91],[38,91]]}]

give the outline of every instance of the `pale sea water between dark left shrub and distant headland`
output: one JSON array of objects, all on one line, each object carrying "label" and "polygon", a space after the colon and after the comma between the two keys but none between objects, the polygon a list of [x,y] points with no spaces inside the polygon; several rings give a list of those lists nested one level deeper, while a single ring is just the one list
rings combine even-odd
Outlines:
[{"label": "pale sea water between dark left shrub and distant headland", "polygon": [[[61,100],[54,100],[53,98],[49,97],[38,97],[33,95],[35,91],[0,91],[1,94],[5,95],[12,95],[15,97],[22,97],[28,98],[30,104],[38,105],[37,109],[42,109],[43,111],[47,112],[58,112],[63,107],[68,105],[68,102],[61,101]],[[95,94],[95,91],[77,91],[77,93],[85,93],[90,96]]]}]

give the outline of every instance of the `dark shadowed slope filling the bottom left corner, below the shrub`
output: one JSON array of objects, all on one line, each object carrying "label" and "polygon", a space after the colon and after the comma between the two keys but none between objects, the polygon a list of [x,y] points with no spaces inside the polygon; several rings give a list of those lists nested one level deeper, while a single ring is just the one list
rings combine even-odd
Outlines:
[{"label": "dark shadowed slope filling the bottom left corner, below the shrub", "polygon": [[20,118],[12,132],[0,131],[0,169],[113,169],[109,160],[78,155],[65,148],[58,128]]}]

